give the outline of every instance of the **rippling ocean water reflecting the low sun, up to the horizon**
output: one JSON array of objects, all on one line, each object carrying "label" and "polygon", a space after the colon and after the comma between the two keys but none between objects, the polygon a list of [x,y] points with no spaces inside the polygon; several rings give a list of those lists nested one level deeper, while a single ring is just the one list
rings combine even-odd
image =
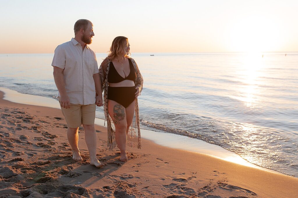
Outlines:
[{"label": "rippling ocean water reflecting the low sun, up to the horizon", "polygon": [[[298,53],[132,57],[144,78],[141,128],[202,139],[298,177]],[[56,98],[52,58],[0,54],[0,87]]]}]

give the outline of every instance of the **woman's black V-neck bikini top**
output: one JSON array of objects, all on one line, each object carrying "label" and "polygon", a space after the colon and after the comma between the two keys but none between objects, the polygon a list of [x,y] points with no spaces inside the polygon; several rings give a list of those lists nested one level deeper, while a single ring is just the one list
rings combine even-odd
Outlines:
[{"label": "woman's black V-neck bikini top", "polygon": [[119,83],[119,82],[124,81],[124,80],[132,80],[134,82],[136,81],[136,72],[134,70],[134,65],[132,64],[131,59],[128,59],[128,62],[129,62],[130,72],[129,72],[128,76],[123,78],[117,72],[113,62],[111,61],[110,69],[109,69],[109,73],[108,73],[108,82],[109,83]]}]

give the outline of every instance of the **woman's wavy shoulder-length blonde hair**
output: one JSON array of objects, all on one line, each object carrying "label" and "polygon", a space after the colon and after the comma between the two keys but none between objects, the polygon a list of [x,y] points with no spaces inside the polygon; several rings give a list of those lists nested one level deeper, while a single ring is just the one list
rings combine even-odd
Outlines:
[{"label": "woman's wavy shoulder-length blonde hair", "polygon": [[114,38],[112,45],[110,47],[108,59],[112,61],[118,58],[118,62],[120,62],[120,59],[122,59],[123,57],[129,58],[129,56],[126,54],[126,51],[124,50],[124,46],[128,46],[127,37],[119,36]]}]

